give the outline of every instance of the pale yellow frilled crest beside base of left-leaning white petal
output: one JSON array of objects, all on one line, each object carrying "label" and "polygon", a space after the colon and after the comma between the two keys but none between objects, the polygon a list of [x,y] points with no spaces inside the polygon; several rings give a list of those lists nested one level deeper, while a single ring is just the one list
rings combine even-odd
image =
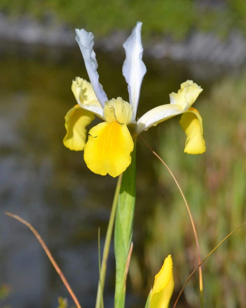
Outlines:
[{"label": "pale yellow frilled crest beside base of left-leaning white petal", "polygon": [[[91,83],[86,81],[83,78],[75,77],[75,80],[72,81],[72,91],[77,100],[77,103],[88,104],[91,101],[98,102],[96,94],[92,88]],[[98,102],[100,106],[100,103]]]}]

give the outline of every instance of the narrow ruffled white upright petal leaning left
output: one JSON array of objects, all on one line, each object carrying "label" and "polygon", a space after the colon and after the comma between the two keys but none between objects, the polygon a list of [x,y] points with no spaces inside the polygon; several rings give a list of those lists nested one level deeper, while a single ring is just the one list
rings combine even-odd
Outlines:
[{"label": "narrow ruffled white upright petal leaning left", "polygon": [[97,73],[97,60],[96,54],[93,51],[94,36],[91,32],[86,32],[84,29],[75,29],[76,41],[81,50],[82,56],[85,61],[85,67],[92,84],[93,90],[97,96],[102,108],[105,105],[105,101],[108,100],[106,93],[103,91],[101,83],[99,83],[99,75]]}]

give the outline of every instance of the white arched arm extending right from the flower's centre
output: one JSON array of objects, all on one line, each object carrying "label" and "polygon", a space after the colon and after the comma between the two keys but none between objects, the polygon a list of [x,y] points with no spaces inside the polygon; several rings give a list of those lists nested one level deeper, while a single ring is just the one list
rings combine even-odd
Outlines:
[{"label": "white arched arm extending right from the flower's centre", "polygon": [[137,121],[137,134],[139,135],[142,131],[146,131],[151,126],[156,126],[169,118],[181,114],[184,112],[184,108],[180,105],[166,104],[155,107],[146,112]]}]

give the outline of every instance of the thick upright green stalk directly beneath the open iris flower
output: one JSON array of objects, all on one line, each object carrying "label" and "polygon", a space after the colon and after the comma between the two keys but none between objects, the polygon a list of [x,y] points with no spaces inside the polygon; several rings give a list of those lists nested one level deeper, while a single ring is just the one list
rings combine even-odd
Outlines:
[{"label": "thick upright green stalk directly beneath the open iris flower", "polygon": [[136,140],[132,162],[122,176],[114,227],[114,253],[116,262],[114,307],[125,306],[127,260],[132,242],[134,208],[136,198]]}]

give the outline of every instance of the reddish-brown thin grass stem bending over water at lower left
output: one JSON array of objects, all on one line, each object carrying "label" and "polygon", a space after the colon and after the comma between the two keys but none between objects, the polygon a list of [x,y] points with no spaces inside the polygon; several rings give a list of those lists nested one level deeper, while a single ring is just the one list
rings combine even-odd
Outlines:
[{"label": "reddish-brown thin grass stem bending over water at lower left", "polygon": [[26,225],[31,231],[32,233],[35,235],[35,237],[37,238],[37,240],[39,241],[39,243],[41,244],[41,246],[43,247],[46,255],[48,256],[48,258],[50,259],[50,262],[52,263],[52,265],[54,266],[55,270],[57,271],[58,275],[60,276],[60,278],[62,279],[62,282],[64,283],[66,289],[68,290],[68,292],[70,293],[71,297],[73,298],[74,303],[76,304],[77,308],[81,308],[81,305],[77,299],[77,297],[75,296],[75,294],[73,293],[73,290],[71,289],[69,283],[67,282],[65,276],[62,273],[62,270],[60,269],[60,267],[58,266],[58,264],[56,263],[55,259],[53,258],[52,254],[50,253],[50,250],[48,249],[48,247],[46,246],[45,242],[43,241],[42,237],[40,236],[40,234],[38,233],[38,231],[27,221],[25,221],[24,219],[22,219],[21,217],[19,217],[18,215],[6,212],[6,215],[17,219],[18,221],[20,221],[22,224]]}]

